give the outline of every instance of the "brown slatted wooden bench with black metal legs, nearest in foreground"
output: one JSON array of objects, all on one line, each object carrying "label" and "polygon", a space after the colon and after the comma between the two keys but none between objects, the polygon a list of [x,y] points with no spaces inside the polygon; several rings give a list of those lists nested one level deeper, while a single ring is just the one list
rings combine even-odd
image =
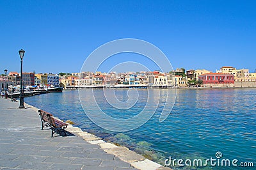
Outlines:
[{"label": "brown slatted wooden bench with black metal legs, nearest in foreground", "polygon": [[57,120],[49,112],[45,112],[42,110],[38,110],[38,112],[39,112],[40,119],[42,122],[42,128],[41,128],[42,130],[44,129],[44,127],[51,128],[52,137],[53,137],[54,132],[56,132],[57,134],[64,133],[65,135],[67,135],[66,131],[65,131],[65,128],[67,128],[67,126],[68,126],[67,123]]}]

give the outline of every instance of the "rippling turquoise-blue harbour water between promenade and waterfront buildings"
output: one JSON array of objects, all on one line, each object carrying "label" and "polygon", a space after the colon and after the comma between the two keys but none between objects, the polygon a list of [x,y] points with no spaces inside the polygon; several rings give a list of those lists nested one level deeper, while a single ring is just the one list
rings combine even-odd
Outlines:
[{"label": "rippling turquoise-blue harbour water between promenade and waterfront buildings", "polygon": [[[86,96],[88,90],[91,89],[80,92]],[[102,89],[94,89],[93,93],[99,106],[109,116],[130,118],[145,107],[148,90],[138,89],[138,102],[127,110],[109,105]],[[216,152],[220,151],[222,158],[236,158],[239,162],[253,162],[256,166],[256,89],[177,89],[171,114],[159,123],[168,90],[171,93],[174,91],[160,89],[160,102],[154,116],[143,126],[128,132],[109,132],[92,123],[81,107],[77,90],[29,97],[25,98],[25,102],[51,112],[61,120],[72,120],[77,127],[106,141],[127,146],[160,164],[164,164],[170,156],[184,160],[216,158]],[[127,89],[116,89],[115,95],[119,100],[126,101]],[[83,100],[88,103],[86,107],[90,107],[90,101],[94,99],[88,95]],[[209,168],[223,169],[206,167]]]}]

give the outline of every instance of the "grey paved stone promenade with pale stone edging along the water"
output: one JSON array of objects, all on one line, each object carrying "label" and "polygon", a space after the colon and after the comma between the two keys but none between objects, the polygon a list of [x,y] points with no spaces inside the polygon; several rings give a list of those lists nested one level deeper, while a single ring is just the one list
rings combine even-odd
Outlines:
[{"label": "grey paved stone promenade with pale stone edging along the water", "polygon": [[0,169],[166,169],[76,127],[51,137],[36,108],[25,106],[0,98]]}]

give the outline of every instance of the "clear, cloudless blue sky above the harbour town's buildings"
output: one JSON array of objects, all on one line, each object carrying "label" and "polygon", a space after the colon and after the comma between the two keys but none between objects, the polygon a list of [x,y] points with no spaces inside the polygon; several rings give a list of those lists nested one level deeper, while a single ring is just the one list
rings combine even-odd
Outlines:
[{"label": "clear, cloudless blue sky above the harbour town's buildings", "polygon": [[[0,73],[5,68],[19,72],[20,49],[26,50],[25,72],[79,72],[93,50],[120,38],[156,45],[174,69],[215,72],[221,66],[235,66],[254,72],[255,5],[255,1],[0,1]],[[108,72],[110,63],[136,58],[124,55],[100,69]]]}]

